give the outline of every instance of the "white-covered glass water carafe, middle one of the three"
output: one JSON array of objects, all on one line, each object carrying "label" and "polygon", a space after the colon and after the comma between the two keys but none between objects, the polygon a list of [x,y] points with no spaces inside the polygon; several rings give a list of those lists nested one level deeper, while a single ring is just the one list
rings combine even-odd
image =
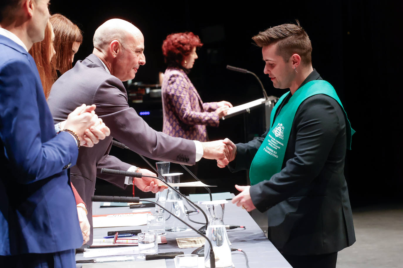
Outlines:
[{"label": "white-covered glass water carafe, middle one of the three", "polygon": [[[179,183],[179,176],[183,175],[183,173],[170,173],[170,174],[162,174],[165,177],[166,182],[170,183]],[[179,187],[175,187],[179,191]],[[183,221],[185,221],[185,207],[183,206],[183,199],[180,194],[168,188],[168,192],[166,194],[165,200],[165,210],[173,213],[175,216],[179,217]],[[164,211],[165,217],[165,231],[169,232],[179,232],[187,229],[187,226],[179,221],[177,218],[172,217],[168,212]]]}]

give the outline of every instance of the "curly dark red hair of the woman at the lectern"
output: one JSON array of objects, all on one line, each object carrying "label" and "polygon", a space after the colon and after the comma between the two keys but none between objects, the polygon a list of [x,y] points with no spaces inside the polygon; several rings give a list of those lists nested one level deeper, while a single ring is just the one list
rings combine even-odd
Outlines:
[{"label": "curly dark red hair of the woman at the lectern", "polygon": [[162,43],[162,54],[168,66],[180,67],[183,59],[192,52],[193,47],[201,47],[199,36],[192,32],[172,33]]}]

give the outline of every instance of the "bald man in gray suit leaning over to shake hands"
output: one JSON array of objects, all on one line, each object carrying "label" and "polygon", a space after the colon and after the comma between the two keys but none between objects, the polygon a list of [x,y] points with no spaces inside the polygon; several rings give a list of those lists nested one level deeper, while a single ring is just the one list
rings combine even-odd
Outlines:
[{"label": "bald man in gray suit leaning over to shake hands", "polygon": [[[55,123],[66,119],[78,104],[96,104],[98,117],[110,128],[110,137],[93,148],[80,148],[77,165],[71,168],[71,181],[88,208],[92,243],[92,202],[96,177],[125,188],[135,184],[140,190],[163,190],[150,178],[123,178],[100,174],[101,168],[135,171],[137,168],[108,155],[112,137],[133,151],[156,160],[193,165],[202,157],[224,162],[231,146],[222,140],[201,143],[170,137],[157,132],[139,117],[127,103],[123,81],[133,79],[140,65],[145,64],[144,37],[134,25],[120,20],[106,21],[93,37],[93,53],[63,74],[52,86],[48,104]],[[155,176],[140,169],[139,172]],[[133,181],[132,181],[133,180]]]}]

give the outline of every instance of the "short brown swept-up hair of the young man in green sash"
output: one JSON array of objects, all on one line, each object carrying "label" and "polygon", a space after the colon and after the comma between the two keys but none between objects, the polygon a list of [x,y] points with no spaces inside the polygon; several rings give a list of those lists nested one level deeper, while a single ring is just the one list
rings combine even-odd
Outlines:
[{"label": "short brown swept-up hair of the young man in green sash", "polygon": [[312,62],[311,40],[298,20],[297,24],[287,23],[266,29],[252,39],[259,47],[277,44],[277,55],[283,57],[285,62],[293,54],[298,54],[304,65]]}]

